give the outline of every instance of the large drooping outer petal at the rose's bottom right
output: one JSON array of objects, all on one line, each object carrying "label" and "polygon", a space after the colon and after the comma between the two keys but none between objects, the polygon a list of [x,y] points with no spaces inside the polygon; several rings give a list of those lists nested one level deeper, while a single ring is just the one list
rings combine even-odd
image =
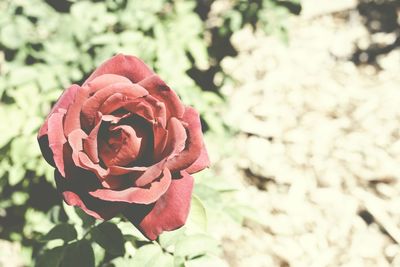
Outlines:
[{"label": "large drooping outer petal at the rose's bottom right", "polygon": [[150,240],[156,239],[163,231],[172,231],[186,222],[190,210],[193,177],[182,172],[182,178],[174,179],[168,191],[156,202],[151,211],[140,217],[135,207],[125,210],[125,216]]}]

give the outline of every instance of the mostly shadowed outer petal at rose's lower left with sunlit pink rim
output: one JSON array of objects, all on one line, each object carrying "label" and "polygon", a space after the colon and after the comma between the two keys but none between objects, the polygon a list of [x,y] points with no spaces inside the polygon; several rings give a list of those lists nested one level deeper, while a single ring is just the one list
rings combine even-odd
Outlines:
[{"label": "mostly shadowed outer petal at rose's lower left with sunlit pink rim", "polygon": [[83,182],[82,180],[89,179],[89,177],[84,177],[85,174],[83,172],[76,173],[76,175],[80,177],[64,179],[57,170],[54,172],[57,189],[62,193],[68,205],[80,207],[90,216],[104,220],[111,219],[126,208],[124,203],[106,202],[91,197],[84,191],[85,186],[79,183],[79,180]]}]

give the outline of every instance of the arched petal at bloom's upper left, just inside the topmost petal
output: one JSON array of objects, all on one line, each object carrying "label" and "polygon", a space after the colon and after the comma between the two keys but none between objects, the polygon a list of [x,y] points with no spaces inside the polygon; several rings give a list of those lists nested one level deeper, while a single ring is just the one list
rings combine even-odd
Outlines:
[{"label": "arched petal at bloom's upper left, just inside the topmost petal", "polygon": [[116,93],[126,96],[129,100],[134,100],[148,94],[143,87],[136,84],[127,83],[114,83],[97,91],[82,105],[81,117],[86,127],[93,125],[100,106],[107,98]]}]

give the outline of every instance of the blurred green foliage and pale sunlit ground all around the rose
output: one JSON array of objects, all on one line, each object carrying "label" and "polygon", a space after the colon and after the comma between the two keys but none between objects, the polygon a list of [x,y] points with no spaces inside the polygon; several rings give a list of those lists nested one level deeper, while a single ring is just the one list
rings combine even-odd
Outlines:
[{"label": "blurred green foliage and pale sunlit ground all around the rose", "polygon": [[[0,266],[400,266],[399,12],[0,0]],[[188,224],[158,242],[62,204],[36,142],[62,90],[116,53],[201,112],[212,160]]]}]

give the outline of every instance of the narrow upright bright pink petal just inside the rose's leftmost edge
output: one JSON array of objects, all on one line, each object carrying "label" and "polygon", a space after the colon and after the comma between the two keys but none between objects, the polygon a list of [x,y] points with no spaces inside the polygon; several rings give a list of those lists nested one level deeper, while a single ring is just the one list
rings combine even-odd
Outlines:
[{"label": "narrow upright bright pink petal just inside the rose's leftmost edge", "polygon": [[48,139],[49,148],[53,154],[53,161],[55,166],[60,171],[61,175],[65,177],[64,170],[64,144],[67,139],[63,132],[63,113],[53,113],[48,119]]}]

